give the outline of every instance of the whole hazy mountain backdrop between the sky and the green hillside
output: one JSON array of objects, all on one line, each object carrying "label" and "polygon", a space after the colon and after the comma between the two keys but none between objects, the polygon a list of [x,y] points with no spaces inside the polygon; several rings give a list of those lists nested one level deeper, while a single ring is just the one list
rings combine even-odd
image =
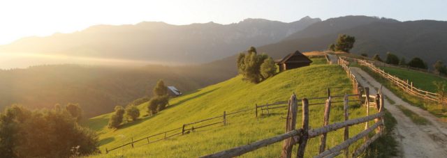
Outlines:
[{"label": "whole hazy mountain backdrop between the sky and the green hillside", "polygon": [[[346,16],[322,22],[304,17],[291,23],[245,19],[227,25],[142,22],[92,26],[76,33],[23,38],[0,46],[0,55],[27,52],[193,65],[142,68],[52,65],[0,70],[0,108],[13,103],[48,107],[79,102],[89,116],[95,116],[112,111],[116,104],[125,105],[150,95],[158,79],[188,92],[234,77],[236,54],[250,46],[257,46],[258,52],[273,58],[282,58],[295,50],[325,50],[339,33],[356,37],[351,50],[354,54],[381,54],[385,58],[386,52],[393,52],[407,61],[415,56],[423,58],[429,67],[436,60],[447,63],[447,22],[432,20],[399,22]],[[5,62],[0,58],[1,63]]]}]

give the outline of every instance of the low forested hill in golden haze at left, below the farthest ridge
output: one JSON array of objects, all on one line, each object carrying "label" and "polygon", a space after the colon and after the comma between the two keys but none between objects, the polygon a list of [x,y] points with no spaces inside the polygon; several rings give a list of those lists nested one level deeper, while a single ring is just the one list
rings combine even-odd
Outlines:
[{"label": "low forested hill in golden haze at left, below the farthest ridge", "polygon": [[141,68],[43,65],[0,70],[0,110],[15,103],[41,109],[72,102],[79,103],[85,115],[91,117],[113,111],[118,104],[126,106],[152,95],[159,79],[187,93],[234,76],[235,72],[214,65]]}]

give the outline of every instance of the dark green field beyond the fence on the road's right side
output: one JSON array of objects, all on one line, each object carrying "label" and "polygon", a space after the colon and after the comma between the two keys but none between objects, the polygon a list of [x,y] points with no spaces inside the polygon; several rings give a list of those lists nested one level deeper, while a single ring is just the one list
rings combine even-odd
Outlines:
[{"label": "dark green field beyond the fence on the road's right side", "polygon": [[389,74],[393,74],[400,79],[408,79],[413,82],[413,86],[420,88],[422,90],[427,90],[432,93],[437,92],[436,86],[434,86],[434,81],[447,81],[447,79],[439,77],[435,74],[418,72],[416,70],[407,70],[404,68],[392,68],[392,67],[381,67]]}]

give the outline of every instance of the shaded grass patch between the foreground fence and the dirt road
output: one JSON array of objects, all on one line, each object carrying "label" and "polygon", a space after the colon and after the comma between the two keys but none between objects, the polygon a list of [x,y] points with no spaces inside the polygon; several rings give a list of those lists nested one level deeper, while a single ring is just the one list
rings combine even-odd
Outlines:
[{"label": "shaded grass patch between the foreground fence and the dirt road", "polygon": [[397,149],[398,143],[393,137],[393,129],[397,120],[385,109],[385,134],[371,143],[362,157],[397,157],[400,151]]}]

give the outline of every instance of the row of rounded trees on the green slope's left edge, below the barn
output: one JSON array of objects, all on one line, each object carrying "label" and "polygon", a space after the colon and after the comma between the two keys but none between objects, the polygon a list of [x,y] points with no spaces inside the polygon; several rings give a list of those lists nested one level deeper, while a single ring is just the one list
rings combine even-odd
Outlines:
[{"label": "row of rounded trees on the green slope's left edge, below the barn", "polygon": [[169,104],[169,94],[168,87],[165,86],[163,80],[159,80],[152,90],[154,97],[142,97],[138,100],[133,101],[131,104],[127,105],[125,108],[123,106],[115,106],[115,112],[110,117],[108,127],[111,129],[118,129],[122,125],[124,118],[129,121],[138,120],[140,117],[140,109],[137,105],[149,102],[147,105],[147,113],[154,115],[160,111],[166,109]]}]

